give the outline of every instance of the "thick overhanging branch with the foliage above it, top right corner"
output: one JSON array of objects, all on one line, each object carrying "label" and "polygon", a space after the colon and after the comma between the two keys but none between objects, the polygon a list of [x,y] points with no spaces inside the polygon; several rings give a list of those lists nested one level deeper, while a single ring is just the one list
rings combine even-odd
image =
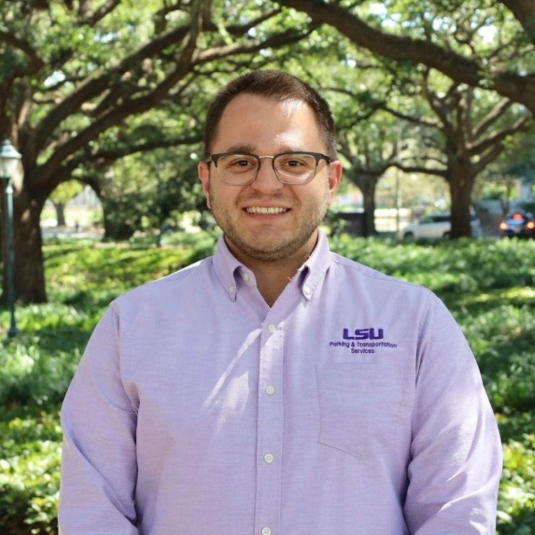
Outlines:
[{"label": "thick overhanging branch with the foliage above it, top right corner", "polygon": [[278,3],[336,28],[378,56],[433,68],[535,113],[534,0]]}]

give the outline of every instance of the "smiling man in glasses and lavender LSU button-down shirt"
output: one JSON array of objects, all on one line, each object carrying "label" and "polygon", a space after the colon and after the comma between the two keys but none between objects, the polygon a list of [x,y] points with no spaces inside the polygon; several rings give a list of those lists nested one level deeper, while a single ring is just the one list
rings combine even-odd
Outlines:
[{"label": "smiling man in glasses and lavender LSU button-down shirt", "polygon": [[215,256],[111,303],[62,409],[62,535],[494,531],[501,448],[431,292],[330,253],[326,102],[252,72],[208,111]]}]

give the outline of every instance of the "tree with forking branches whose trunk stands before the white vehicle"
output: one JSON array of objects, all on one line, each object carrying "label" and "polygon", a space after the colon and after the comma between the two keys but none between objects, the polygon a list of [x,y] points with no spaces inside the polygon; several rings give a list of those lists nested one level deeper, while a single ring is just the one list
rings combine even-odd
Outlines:
[{"label": "tree with forking branches whose trunk stands before the white vehicle", "polygon": [[415,105],[414,98],[408,102],[410,112],[400,111],[399,106],[381,107],[419,127],[421,135],[413,142],[410,157],[396,165],[405,172],[431,174],[447,181],[452,213],[450,235],[458,238],[470,236],[476,178],[502,154],[506,142],[529,125],[532,117],[507,98],[445,81],[431,80],[429,71],[422,76],[421,90],[428,110]]}]

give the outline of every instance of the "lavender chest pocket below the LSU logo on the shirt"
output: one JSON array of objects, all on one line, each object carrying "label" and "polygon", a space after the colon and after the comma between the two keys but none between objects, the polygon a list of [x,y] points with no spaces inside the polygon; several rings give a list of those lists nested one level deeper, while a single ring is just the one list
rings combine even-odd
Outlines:
[{"label": "lavender chest pocket below the LSU logo on the shirt", "polygon": [[403,376],[402,366],[319,366],[319,441],[362,460],[391,449],[404,401]]}]

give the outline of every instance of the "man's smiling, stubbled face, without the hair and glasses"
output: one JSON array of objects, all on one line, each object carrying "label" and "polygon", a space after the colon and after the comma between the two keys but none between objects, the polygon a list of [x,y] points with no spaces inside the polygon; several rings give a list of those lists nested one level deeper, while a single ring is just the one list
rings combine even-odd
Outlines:
[{"label": "man's smiling, stubbled face, without the hair and glasses", "polygon": [[[314,112],[301,101],[277,102],[241,94],[221,117],[212,154],[248,152],[260,156],[285,151],[322,152],[326,146]],[[281,184],[272,160],[261,159],[253,184],[230,186],[213,163],[201,162],[198,174],[218,225],[241,261],[277,262],[309,253],[317,227],[340,181],[340,162],[321,160],[308,184]],[[265,208],[276,209],[265,213]]]}]

